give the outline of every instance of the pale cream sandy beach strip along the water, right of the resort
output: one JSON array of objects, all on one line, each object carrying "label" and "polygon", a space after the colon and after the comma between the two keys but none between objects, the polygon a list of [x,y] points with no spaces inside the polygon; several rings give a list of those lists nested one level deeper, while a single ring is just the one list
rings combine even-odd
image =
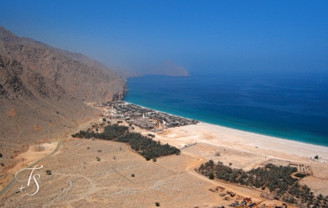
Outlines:
[{"label": "pale cream sandy beach strip along the water, right of the resort", "polygon": [[324,160],[328,159],[328,147],[274,138],[203,122],[192,126],[170,128],[159,135],[163,135],[163,140],[175,140],[175,145],[180,148],[186,144],[204,142],[243,151],[255,151],[271,156],[294,154],[296,156],[313,158],[317,155]]}]

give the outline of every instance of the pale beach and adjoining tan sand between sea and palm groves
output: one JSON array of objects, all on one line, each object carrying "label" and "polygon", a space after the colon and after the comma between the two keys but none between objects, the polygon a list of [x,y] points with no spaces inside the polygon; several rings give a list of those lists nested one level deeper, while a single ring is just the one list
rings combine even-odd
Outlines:
[{"label": "pale beach and adjoining tan sand between sea and palm groves", "polygon": [[[137,131],[146,135],[146,131],[142,129]],[[155,139],[183,148],[183,151],[207,160],[221,161],[225,165],[232,163],[232,167],[243,168],[246,171],[267,163],[294,165],[299,172],[311,175],[303,179],[303,184],[313,188],[315,194],[328,195],[328,188],[325,188],[328,187],[328,164],[310,159],[317,155],[320,156],[320,161],[327,161],[327,147],[202,122],[197,125],[169,128],[156,133]],[[220,156],[216,155],[217,152]],[[317,181],[321,181],[318,186],[320,188],[316,188]]]}]

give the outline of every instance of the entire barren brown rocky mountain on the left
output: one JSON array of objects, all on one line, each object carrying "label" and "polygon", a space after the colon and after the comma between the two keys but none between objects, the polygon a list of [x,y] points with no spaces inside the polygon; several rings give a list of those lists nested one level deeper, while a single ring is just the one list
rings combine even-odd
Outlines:
[{"label": "entire barren brown rocky mountain on the left", "polygon": [[118,71],[0,27],[0,181],[29,144],[71,133],[100,114],[88,103],[122,98],[125,90]]}]

